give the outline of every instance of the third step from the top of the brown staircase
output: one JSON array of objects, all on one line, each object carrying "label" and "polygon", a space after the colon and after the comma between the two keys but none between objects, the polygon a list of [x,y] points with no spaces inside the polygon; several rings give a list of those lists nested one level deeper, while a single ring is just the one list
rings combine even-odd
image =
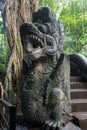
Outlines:
[{"label": "third step from the top of the brown staircase", "polygon": [[87,98],[87,89],[71,89],[71,99]]}]

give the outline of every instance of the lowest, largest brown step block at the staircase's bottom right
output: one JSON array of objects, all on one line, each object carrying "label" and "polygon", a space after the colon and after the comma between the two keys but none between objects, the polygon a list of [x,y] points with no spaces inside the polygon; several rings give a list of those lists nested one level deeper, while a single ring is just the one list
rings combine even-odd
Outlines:
[{"label": "lowest, largest brown step block at the staircase's bottom right", "polygon": [[79,126],[82,130],[87,130],[87,111],[86,112],[74,112],[73,122]]}]

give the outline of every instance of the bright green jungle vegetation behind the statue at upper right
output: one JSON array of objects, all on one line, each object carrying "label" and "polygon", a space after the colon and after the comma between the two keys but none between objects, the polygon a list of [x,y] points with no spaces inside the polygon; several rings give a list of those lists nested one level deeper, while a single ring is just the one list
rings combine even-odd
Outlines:
[{"label": "bright green jungle vegetation behind the statue at upper right", "polygon": [[64,24],[65,53],[79,52],[87,56],[87,1],[44,0],[40,5],[50,6],[56,12],[57,20]]}]

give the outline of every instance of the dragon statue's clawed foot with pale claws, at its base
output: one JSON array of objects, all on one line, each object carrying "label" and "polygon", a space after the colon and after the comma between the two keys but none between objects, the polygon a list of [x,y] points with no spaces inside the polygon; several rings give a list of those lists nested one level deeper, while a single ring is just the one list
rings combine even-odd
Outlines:
[{"label": "dragon statue's clawed foot with pale claws, at its base", "polygon": [[47,120],[43,125],[42,130],[60,130],[60,122],[54,120]]}]

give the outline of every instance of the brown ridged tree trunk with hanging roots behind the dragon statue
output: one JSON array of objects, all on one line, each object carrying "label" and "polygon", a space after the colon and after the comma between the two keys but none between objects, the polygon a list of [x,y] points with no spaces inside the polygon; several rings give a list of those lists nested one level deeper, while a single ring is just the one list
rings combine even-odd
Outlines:
[{"label": "brown ridged tree trunk with hanging roots behind the dragon statue", "polygon": [[19,27],[23,22],[32,21],[32,13],[37,10],[38,0],[7,0],[4,9],[5,28],[9,44],[10,58],[7,67],[5,88],[7,100],[17,103],[20,100],[22,85],[23,51]]}]

